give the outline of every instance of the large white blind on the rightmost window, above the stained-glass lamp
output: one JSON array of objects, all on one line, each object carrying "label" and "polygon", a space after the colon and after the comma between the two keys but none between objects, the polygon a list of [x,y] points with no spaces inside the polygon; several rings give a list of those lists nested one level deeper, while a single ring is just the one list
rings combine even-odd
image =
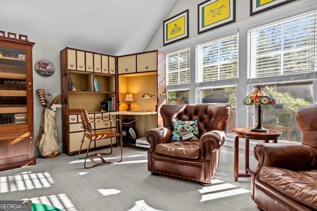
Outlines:
[{"label": "large white blind on the rightmost window, above the stained-glass lamp", "polygon": [[248,45],[248,79],[315,72],[316,11],[251,29]]}]

